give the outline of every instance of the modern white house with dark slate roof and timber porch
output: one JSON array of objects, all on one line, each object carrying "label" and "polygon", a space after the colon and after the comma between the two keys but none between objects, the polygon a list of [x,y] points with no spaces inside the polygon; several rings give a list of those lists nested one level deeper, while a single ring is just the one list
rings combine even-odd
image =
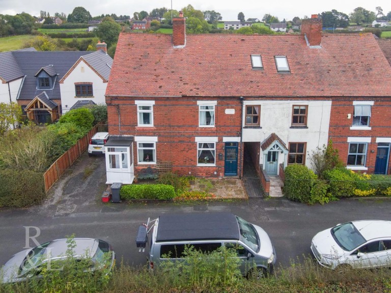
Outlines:
[{"label": "modern white house with dark slate roof and timber porch", "polygon": [[0,53],[0,102],[17,102],[38,124],[59,119],[76,105],[105,103],[104,93],[113,59],[106,44],[91,51]]}]

